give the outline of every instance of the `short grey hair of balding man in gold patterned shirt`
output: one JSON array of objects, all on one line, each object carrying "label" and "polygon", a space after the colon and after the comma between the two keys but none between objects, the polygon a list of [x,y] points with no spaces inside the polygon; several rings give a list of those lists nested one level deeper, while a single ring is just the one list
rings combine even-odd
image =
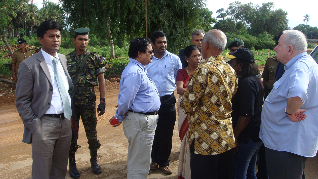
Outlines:
[{"label": "short grey hair of balding man in gold patterned shirt", "polygon": [[203,42],[207,42],[211,47],[216,48],[219,52],[223,52],[226,46],[226,35],[217,29],[206,32]]}]

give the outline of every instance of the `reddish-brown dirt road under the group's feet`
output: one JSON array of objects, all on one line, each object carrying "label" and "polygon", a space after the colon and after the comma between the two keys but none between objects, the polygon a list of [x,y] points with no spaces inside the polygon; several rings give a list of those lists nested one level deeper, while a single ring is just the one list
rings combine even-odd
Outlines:
[{"label": "reddish-brown dirt road under the group's feet", "polygon": [[[98,150],[98,161],[103,172],[94,175],[90,168],[90,153],[83,125],[79,126],[78,144],[82,147],[76,153],[76,163],[81,179],[127,178],[127,148],[128,142],[123,133],[122,125],[112,127],[108,120],[116,108],[119,89],[117,87],[106,89],[106,112],[97,118],[97,134],[101,147]],[[96,98],[99,99],[99,92],[96,91]],[[177,96],[177,95],[176,95]],[[31,145],[22,142],[23,124],[17,113],[14,103],[0,106],[0,178],[31,178]],[[177,179],[180,139],[178,136],[178,125],[176,121],[172,151],[170,155],[170,166],[173,169],[171,175],[165,175],[160,169],[150,171],[148,178],[170,178]],[[305,146],[304,146],[305,147]],[[309,158],[306,163],[306,178],[318,178],[318,157]],[[69,174],[66,174],[69,179]]]}]

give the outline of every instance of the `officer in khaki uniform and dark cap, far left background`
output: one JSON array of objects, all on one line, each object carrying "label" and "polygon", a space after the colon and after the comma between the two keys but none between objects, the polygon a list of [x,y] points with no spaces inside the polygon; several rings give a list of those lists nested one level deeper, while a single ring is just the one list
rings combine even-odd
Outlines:
[{"label": "officer in khaki uniform and dark cap, far left background", "polygon": [[17,81],[18,68],[22,61],[29,58],[32,52],[25,48],[26,40],[18,39],[19,49],[14,51],[11,58],[12,78]]}]

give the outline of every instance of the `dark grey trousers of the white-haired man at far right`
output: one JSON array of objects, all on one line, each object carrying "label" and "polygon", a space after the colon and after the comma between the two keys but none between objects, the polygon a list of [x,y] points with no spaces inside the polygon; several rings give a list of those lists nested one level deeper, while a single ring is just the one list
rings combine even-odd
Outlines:
[{"label": "dark grey trousers of the white-haired man at far right", "polygon": [[307,157],[265,147],[265,158],[269,179],[305,179]]}]

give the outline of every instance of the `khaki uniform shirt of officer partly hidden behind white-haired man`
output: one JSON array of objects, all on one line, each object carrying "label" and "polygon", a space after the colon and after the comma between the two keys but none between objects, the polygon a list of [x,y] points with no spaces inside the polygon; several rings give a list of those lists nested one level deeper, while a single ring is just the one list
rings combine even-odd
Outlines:
[{"label": "khaki uniform shirt of officer partly hidden behind white-haired man", "polygon": [[276,82],[275,74],[276,74],[276,67],[279,61],[277,61],[277,57],[269,57],[266,60],[264,71],[262,73],[262,78],[268,80],[267,87],[268,89],[273,89],[273,84]]}]

